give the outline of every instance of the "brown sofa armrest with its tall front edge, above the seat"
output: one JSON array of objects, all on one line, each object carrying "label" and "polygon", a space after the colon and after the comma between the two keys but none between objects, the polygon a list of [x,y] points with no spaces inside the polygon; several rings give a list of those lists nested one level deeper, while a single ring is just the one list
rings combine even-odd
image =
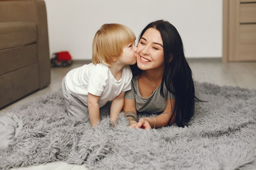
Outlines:
[{"label": "brown sofa armrest with its tall front edge, above the seat", "polygon": [[0,22],[34,22],[37,29],[39,88],[50,83],[47,13],[43,0],[0,0]]}]

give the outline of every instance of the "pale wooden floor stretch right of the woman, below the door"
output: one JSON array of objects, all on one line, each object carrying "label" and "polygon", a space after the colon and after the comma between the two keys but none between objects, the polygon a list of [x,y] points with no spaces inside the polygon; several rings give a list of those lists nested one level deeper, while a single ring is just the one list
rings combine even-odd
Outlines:
[{"label": "pale wooden floor stretch right of the woman, below the door", "polygon": [[196,81],[256,88],[256,62],[222,63],[220,59],[191,59],[189,65]]}]

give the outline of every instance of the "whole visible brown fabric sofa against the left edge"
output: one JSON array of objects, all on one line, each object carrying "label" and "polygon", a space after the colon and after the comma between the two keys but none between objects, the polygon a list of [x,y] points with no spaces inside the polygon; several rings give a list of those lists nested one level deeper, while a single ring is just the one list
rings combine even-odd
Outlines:
[{"label": "whole visible brown fabric sofa against the left edge", "polygon": [[50,83],[43,0],[0,0],[0,108]]}]

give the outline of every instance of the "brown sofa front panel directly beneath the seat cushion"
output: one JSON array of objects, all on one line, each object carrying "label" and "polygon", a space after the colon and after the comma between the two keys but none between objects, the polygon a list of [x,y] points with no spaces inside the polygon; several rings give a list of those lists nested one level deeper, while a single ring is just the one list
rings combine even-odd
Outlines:
[{"label": "brown sofa front panel directly beneath the seat cushion", "polygon": [[0,50],[0,75],[37,63],[36,44]]}]

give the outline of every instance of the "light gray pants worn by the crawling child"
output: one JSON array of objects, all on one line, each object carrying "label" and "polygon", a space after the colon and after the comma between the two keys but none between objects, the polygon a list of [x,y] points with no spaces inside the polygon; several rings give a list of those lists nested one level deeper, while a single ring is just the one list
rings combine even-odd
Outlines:
[{"label": "light gray pants worn by the crawling child", "polygon": [[[65,77],[62,80],[62,93],[64,96],[64,102],[68,115],[72,115],[77,118],[84,118],[85,115],[88,115],[88,106],[85,106],[85,104],[83,104],[80,99],[74,97],[67,91]],[[110,113],[109,102],[100,108],[100,113]]]}]

